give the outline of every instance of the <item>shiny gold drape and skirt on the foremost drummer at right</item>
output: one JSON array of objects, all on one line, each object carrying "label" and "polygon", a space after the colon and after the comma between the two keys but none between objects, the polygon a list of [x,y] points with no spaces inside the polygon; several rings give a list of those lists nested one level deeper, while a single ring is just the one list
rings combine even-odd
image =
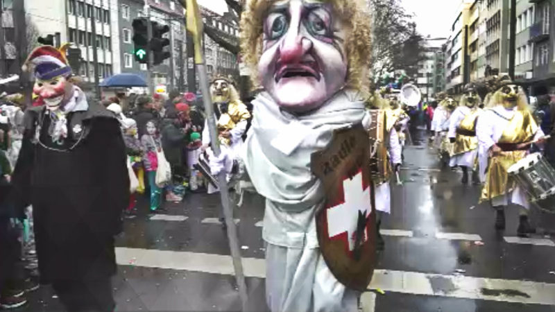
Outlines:
[{"label": "shiny gold drape and skirt on the foremost drummer at right", "polygon": [[[538,124],[529,110],[516,110],[513,118],[503,130],[498,144],[521,144],[532,141],[538,131]],[[490,200],[504,195],[515,188],[515,181],[509,178],[509,167],[524,158],[527,150],[504,151],[500,155],[490,157],[486,185],[481,192],[480,201]]]}]

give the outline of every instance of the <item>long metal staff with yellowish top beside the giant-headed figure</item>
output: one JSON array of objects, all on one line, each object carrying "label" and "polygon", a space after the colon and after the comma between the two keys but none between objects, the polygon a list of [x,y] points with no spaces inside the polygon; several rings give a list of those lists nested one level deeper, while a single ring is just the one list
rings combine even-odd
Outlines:
[{"label": "long metal staff with yellowish top beside the giant-headed figure", "polygon": [[[198,73],[200,90],[203,93],[206,122],[208,125],[208,131],[210,132],[210,145],[212,147],[214,155],[218,157],[221,153],[221,150],[218,140],[218,132],[216,130],[216,120],[214,119],[214,106],[212,105],[210,90],[208,89],[208,77],[206,74],[205,57],[203,54],[200,39],[203,35],[203,19],[200,18],[198,4],[196,3],[196,0],[180,0],[180,3],[187,10],[187,31],[189,31],[189,33],[191,33],[191,35],[193,36],[195,49],[195,65]],[[245,276],[243,274],[243,265],[241,263],[239,243],[237,240],[237,228],[235,227],[235,223],[233,222],[233,214],[230,209],[229,189],[226,175],[227,173],[225,173],[225,171],[219,173],[218,186],[220,189],[223,215],[225,216],[225,224],[227,225],[228,241],[230,242],[231,257],[233,259],[233,268],[235,270],[235,279],[237,281],[237,287],[239,288],[239,296],[241,297],[243,311],[247,311],[247,288],[245,284]]]}]

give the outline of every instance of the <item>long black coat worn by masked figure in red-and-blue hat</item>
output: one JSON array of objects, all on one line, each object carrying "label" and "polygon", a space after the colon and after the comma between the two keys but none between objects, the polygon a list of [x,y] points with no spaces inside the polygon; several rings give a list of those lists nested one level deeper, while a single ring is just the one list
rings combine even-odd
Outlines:
[{"label": "long black coat worn by masked figure in red-and-blue hat", "polygon": [[67,139],[53,142],[44,107],[26,111],[12,180],[17,205],[33,205],[42,283],[114,275],[114,235],[121,232],[129,200],[117,119],[93,104],[67,120]]}]

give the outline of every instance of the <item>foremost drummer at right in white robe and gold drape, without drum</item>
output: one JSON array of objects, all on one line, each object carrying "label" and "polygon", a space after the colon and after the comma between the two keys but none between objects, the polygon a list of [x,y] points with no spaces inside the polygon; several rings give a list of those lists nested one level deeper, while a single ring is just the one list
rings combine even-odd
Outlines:
[{"label": "foremost drummer at right in white robe and gold drape, without drum", "polygon": [[491,97],[490,107],[479,116],[476,125],[480,163],[487,164],[488,168],[480,201],[489,200],[495,208],[495,228],[499,230],[505,229],[504,209],[509,202],[519,205],[517,233],[528,236],[535,232],[528,220],[529,200],[507,171],[526,157],[532,141],[543,144],[544,134],[529,110],[522,88],[514,85],[508,76],[500,79],[502,83]]}]

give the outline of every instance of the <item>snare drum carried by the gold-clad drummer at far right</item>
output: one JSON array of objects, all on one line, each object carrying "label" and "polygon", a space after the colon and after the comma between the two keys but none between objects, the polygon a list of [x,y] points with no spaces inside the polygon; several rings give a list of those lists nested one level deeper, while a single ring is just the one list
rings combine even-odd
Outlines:
[{"label": "snare drum carried by the gold-clad drummer at far right", "polygon": [[531,202],[544,211],[555,213],[555,169],[540,153],[520,159],[508,173],[526,191]]}]

